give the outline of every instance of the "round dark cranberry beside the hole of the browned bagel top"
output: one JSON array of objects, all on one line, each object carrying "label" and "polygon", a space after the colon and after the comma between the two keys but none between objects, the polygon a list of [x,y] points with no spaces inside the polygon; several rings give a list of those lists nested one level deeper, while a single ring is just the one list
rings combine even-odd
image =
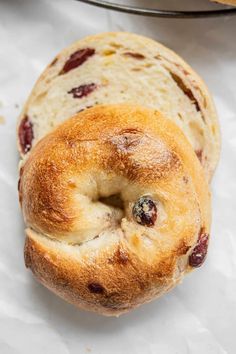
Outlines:
[{"label": "round dark cranberry beside the hole of the browned bagel top", "polygon": [[154,201],[143,196],[133,206],[133,216],[138,224],[153,226],[157,219],[157,207]]}]

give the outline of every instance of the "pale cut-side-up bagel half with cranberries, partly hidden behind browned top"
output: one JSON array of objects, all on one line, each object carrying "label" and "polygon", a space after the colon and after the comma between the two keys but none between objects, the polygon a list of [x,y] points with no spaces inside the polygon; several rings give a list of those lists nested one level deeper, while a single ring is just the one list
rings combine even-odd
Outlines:
[{"label": "pale cut-side-up bagel half with cranberries, partly hidden behind browned top", "polygon": [[22,156],[65,119],[98,104],[151,107],[174,121],[208,181],[220,149],[217,115],[199,76],[174,52],[132,33],[103,33],[64,49],[43,72],[20,115]]}]

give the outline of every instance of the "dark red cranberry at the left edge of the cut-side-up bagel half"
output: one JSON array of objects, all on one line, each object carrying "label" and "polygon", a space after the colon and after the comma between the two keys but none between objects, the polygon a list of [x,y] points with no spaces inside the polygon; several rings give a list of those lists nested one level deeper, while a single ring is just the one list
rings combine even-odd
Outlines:
[{"label": "dark red cranberry at the left edge of the cut-side-up bagel half", "polygon": [[19,141],[21,150],[23,153],[27,153],[32,146],[32,140],[34,138],[33,125],[28,116],[25,116],[19,126],[18,130]]}]

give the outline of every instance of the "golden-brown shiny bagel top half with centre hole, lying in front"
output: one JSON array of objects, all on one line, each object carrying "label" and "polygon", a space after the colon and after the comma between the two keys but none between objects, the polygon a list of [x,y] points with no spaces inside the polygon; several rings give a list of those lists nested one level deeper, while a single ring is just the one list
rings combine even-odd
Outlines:
[{"label": "golden-brown shiny bagel top half with centre hole, lying in front", "polygon": [[[155,110],[96,106],[68,119],[22,164],[19,196],[26,266],[81,308],[127,312],[205,258],[198,243],[204,235],[206,244],[211,216],[202,166]],[[155,214],[146,225],[136,217],[143,200]]]}]

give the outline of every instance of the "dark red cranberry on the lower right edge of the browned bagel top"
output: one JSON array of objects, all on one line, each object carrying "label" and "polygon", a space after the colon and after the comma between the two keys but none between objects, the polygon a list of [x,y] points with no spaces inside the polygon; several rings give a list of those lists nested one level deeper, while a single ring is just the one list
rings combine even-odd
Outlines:
[{"label": "dark red cranberry on the lower right edge of the browned bagel top", "polygon": [[201,230],[197,245],[194,247],[191,255],[189,256],[189,265],[191,267],[200,267],[204,263],[207,255],[208,242],[209,235]]}]

